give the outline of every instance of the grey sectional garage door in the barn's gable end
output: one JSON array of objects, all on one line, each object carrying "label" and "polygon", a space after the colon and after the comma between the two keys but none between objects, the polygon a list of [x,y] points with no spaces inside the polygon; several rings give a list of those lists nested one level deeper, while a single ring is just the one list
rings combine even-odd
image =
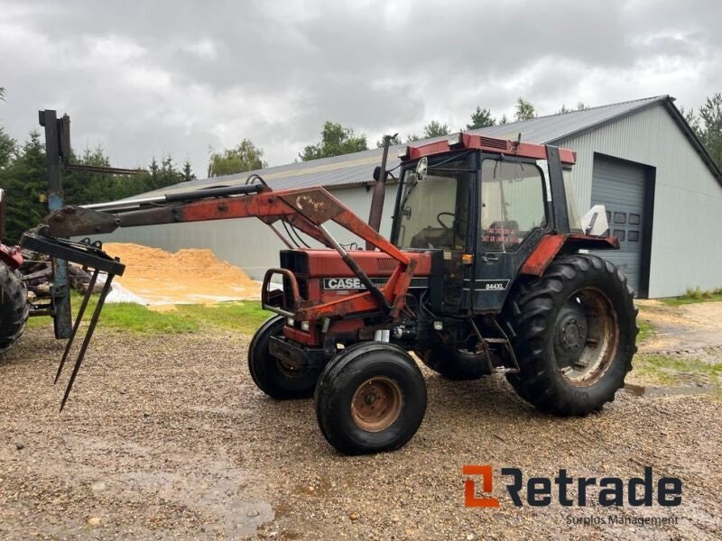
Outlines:
[{"label": "grey sectional garage door in the barn's gable end", "polygon": [[639,291],[642,277],[643,201],[643,166],[595,156],[592,205],[606,206],[609,233],[619,239],[621,247],[618,252],[597,255],[615,263],[634,291]]}]

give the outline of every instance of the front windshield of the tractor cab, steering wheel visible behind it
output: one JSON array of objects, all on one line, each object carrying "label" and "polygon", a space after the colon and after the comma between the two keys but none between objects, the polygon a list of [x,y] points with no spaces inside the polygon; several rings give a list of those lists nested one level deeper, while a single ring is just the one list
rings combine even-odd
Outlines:
[{"label": "front windshield of the tractor cab, steering wheel visible behind it", "polygon": [[464,250],[469,190],[476,179],[472,159],[470,152],[433,158],[426,179],[421,181],[416,163],[402,171],[403,191],[395,227],[399,248]]}]

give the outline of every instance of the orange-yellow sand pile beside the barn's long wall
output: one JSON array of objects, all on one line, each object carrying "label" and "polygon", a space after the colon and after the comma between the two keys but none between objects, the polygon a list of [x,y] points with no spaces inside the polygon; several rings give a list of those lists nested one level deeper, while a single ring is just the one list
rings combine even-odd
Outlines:
[{"label": "orange-yellow sand pile beside the barn's long wall", "polygon": [[104,250],[125,263],[116,278],[150,305],[214,303],[260,298],[261,284],[210,250],[165,252],[139,244],[107,243]]}]

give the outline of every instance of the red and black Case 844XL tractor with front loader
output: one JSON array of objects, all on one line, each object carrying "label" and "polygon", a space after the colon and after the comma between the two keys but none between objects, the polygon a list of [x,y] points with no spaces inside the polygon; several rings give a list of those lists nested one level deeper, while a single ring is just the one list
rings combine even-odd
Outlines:
[{"label": "red and black Case 844XL tractor with front loader", "polygon": [[[562,416],[614,399],[636,351],[636,308],[625,276],[587,252],[618,242],[589,234],[606,231],[604,212],[582,229],[574,153],[471,133],[407,147],[386,240],[377,230],[387,149],[388,140],[369,223],[323,188],[273,191],[254,175],[241,187],[67,206],[23,244],[108,273],[91,334],[123,265],[99,243],[65,238],[246,216],[272,226],[289,248],[265,275],[263,307],[276,316],[256,332],[248,368],[274,399],[314,397],[321,432],[345,454],[397,449],[416,433],[427,396],[411,353],[452,380],[504,373],[524,400]],[[330,222],[366,249],[342,246]],[[319,248],[295,246],[299,232]]]}]

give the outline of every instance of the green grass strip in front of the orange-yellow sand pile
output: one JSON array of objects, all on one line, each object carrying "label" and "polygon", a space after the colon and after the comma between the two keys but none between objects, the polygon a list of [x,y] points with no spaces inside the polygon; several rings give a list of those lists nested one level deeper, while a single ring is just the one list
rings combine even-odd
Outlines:
[{"label": "green grass strip in front of the orange-yellow sand pile", "polygon": [[[73,317],[77,316],[82,297],[71,298]],[[88,325],[97,305],[97,296],[90,298],[85,317]],[[111,328],[143,334],[179,334],[226,329],[251,335],[271,316],[261,309],[257,300],[224,302],[217,305],[177,305],[175,309],[156,311],[132,303],[106,304],[98,321],[98,328]],[[52,326],[50,317],[31,317],[29,328]]]}]

